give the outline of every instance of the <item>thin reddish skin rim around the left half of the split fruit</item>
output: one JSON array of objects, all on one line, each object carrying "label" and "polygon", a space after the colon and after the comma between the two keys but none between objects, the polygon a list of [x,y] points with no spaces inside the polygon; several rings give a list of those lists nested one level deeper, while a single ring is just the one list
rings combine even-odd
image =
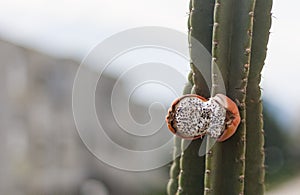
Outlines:
[{"label": "thin reddish skin rim around the left half of the split fruit", "polygon": [[207,101],[206,98],[204,98],[204,97],[202,97],[202,96],[200,96],[200,95],[196,95],[196,94],[187,94],[187,95],[183,95],[183,96],[181,96],[180,98],[177,98],[176,100],[174,100],[174,101],[172,102],[171,107],[169,108],[168,114],[167,114],[167,116],[166,116],[166,122],[167,122],[167,124],[168,124],[168,128],[169,128],[169,130],[170,130],[172,133],[178,135],[179,137],[181,137],[181,138],[183,138],[183,139],[187,139],[187,140],[195,140],[195,139],[198,139],[198,138],[202,138],[202,137],[205,135],[205,133],[203,133],[203,134],[201,134],[201,135],[198,135],[198,136],[194,136],[194,137],[186,137],[186,136],[182,136],[181,134],[178,134],[178,133],[177,133],[177,130],[174,129],[174,127],[173,127],[173,119],[174,119],[174,114],[175,114],[175,107],[176,107],[177,103],[178,103],[180,100],[182,100],[182,99],[184,99],[184,98],[186,98],[186,97],[196,97],[196,98],[201,99],[203,102],[206,102],[206,101]]}]

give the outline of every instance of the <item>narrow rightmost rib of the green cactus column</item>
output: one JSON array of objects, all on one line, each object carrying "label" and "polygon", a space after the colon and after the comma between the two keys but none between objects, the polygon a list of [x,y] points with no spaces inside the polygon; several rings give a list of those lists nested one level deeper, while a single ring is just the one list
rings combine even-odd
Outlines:
[{"label": "narrow rightmost rib of the green cactus column", "polygon": [[261,101],[261,70],[267,53],[271,27],[272,0],[256,0],[254,11],[251,67],[246,98],[245,194],[264,194],[264,133]]}]

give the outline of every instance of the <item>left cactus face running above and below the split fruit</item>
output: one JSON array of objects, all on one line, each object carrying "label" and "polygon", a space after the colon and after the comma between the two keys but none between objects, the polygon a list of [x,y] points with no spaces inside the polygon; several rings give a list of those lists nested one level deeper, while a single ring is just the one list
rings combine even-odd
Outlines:
[{"label": "left cactus face running above and below the split fruit", "polygon": [[[191,69],[193,71],[193,89],[203,97],[210,96],[209,88],[203,78],[200,70],[200,64],[195,65],[193,61],[197,58],[194,41],[199,41],[208,51],[211,51],[211,37],[213,27],[213,9],[214,1],[212,0],[191,0],[190,14],[188,21],[189,44],[191,55]],[[189,144],[187,147],[186,145]],[[198,151],[202,140],[192,142],[182,140],[182,155],[180,158],[179,186],[177,194],[203,194],[204,189],[204,168],[205,157],[199,156]]]}]

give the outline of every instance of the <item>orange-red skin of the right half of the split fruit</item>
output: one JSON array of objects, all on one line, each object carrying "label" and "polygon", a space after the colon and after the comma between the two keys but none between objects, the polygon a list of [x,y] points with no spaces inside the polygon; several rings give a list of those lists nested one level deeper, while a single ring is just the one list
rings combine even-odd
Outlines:
[{"label": "orange-red skin of the right half of the split fruit", "polygon": [[214,99],[226,109],[226,127],[223,134],[217,140],[218,142],[223,142],[235,133],[241,122],[241,117],[237,105],[229,97],[217,94]]}]

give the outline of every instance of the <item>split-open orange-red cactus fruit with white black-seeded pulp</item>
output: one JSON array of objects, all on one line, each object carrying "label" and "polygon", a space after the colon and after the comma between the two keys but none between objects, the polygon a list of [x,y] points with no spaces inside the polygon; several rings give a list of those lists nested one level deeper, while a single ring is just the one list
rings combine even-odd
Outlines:
[{"label": "split-open orange-red cactus fruit with white black-seeded pulp", "polygon": [[218,141],[231,137],[240,122],[236,104],[222,94],[209,100],[195,94],[176,99],[166,117],[170,131],[184,139],[206,134]]}]

